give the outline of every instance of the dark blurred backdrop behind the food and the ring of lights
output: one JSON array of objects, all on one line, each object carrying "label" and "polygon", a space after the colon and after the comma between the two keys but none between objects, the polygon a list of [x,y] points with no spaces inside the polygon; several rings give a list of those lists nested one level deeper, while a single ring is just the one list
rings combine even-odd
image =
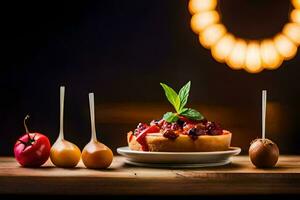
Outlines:
[{"label": "dark blurred backdrop behind the food and the ring of lights", "polygon": [[[275,71],[249,74],[217,63],[190,29],[186,0],[1,3],[0,155],[24,133],[59,131],[59,86],[66,86],[65,138],[90,139],[88,93],[96,98],[98,136],[112,149],[126,132],[172,107],[159,82],[192,81],[189,106],[234,134],[246,153],[261,133],[261,90],[268,90],[267,137],[300,153],[299,54]],[[235,35],[271,37],[288,21],[288,0],[226,0],[222,20]]]}]

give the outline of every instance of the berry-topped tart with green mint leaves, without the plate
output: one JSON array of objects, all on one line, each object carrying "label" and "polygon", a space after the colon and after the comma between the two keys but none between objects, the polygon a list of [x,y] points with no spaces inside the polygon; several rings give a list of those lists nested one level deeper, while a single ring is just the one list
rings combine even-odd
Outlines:
[{"label": "berry-topped tart with green mint leaves, without the plate", "polygon": [[127,133],[128,146],[136,151],[209,152],[225,151],[230,147],[231,133],[220,124],[208,121],[200,112],[186,108],[191,82],[177,94],[161,83],[168,101],[176,112],[167,112],[162,119],[150,124],[139,123]]}]

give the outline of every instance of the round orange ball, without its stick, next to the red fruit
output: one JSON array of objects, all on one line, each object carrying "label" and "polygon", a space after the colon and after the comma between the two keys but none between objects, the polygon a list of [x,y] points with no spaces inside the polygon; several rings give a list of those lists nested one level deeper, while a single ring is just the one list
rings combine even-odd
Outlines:
[{"label": "round orange ball, without its stick, next to the red fruit", "polygon": [[72,168],[76,167],[80,161],[80,149],[67,140],[58,140],[52,146],[50,151],[50,159],[57,167]]}]

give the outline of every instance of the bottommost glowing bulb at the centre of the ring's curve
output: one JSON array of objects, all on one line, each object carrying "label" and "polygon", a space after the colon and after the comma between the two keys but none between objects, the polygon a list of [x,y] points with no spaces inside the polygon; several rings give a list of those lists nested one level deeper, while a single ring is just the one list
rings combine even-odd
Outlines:
[{"label": "bottommost glowing bulb at the centre of the ring's curve", "polygon": [[252,41],[248,44],[245,70],[250,73],[258,73],[263,70],[260,57],[260,46],[256,41]]}]

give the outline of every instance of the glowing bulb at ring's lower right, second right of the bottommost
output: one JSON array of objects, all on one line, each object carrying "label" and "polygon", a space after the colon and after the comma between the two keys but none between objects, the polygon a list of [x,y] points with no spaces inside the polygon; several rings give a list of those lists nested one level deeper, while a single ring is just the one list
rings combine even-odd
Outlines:
[{"label": "glowing bulb at ring's lower right, second right of the bottommost", "polygon": [[293,58],[297,53],[297,47],[283,34],[278,34],[274,38],[277,51],[285,60]]}]

